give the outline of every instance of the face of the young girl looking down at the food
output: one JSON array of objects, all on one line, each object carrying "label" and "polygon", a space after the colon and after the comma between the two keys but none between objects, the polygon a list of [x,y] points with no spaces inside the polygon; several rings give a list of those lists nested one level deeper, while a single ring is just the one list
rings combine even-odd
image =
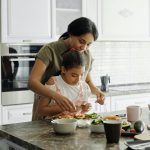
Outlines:
[{"label": "face of the young girl looking down at the food", "polygon": [[83,75],[84,67],[79,66],[79,67],[75,67],[75,68],[66,70],[62,66],[61,72],[62,72],[62,78],[66,83],[68,83],[70,85],[76,85],[80,81],[80,79]]}]

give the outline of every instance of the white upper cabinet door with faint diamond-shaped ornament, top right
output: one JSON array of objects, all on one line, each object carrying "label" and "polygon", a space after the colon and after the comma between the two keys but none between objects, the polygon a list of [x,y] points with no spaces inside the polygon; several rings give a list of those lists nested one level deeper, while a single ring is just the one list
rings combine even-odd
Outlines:
[{"label": "white upper cabinet door with faint diamond-shaped ornament, top right", "polygon": [[149,40],[149,0],[98,0],[100,40]]}]

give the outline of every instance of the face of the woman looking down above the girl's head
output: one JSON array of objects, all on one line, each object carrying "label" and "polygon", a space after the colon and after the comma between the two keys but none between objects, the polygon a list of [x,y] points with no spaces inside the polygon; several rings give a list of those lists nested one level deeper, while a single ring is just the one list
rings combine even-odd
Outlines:
[{"label": "face of the woman looking down above the girl's head", "polygon": [[69,39],[70,48],[77,49],[80,52],[86,51],[94,41],[93,34],[91,33],[86,33],[81,36],[71,35]]}]

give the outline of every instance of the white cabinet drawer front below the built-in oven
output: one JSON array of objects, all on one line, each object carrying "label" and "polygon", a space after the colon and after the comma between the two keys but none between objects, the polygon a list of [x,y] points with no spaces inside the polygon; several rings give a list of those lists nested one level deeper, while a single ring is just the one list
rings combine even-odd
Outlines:
[{"label": "white cabinet drawer front below the built-in oven", "polygon": [[28,122],[32,119],[33,104],[2,107],[2,124]]}]

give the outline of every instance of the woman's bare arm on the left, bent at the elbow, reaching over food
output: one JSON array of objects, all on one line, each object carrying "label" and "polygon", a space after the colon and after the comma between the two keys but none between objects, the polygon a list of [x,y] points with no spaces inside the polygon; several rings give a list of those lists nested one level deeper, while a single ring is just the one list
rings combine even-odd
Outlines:
[{"label": "woman's bare arm on the left, bent at the elbow, reaching over food", "polygon": [[42,60],[37,58],[29,77],[29,88],[39,95],[54,99],[62,110],[75,111],[74,104],[68,98],[48,89],[41,83],[45,70],[46,65]]}]

